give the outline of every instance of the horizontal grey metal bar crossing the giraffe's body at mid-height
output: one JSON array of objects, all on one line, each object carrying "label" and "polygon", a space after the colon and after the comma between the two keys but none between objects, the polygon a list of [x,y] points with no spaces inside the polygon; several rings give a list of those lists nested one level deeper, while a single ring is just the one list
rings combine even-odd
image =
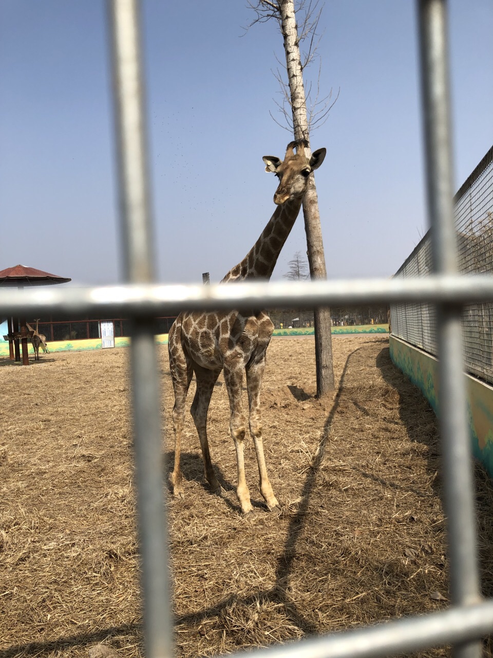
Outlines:
[{"label": "horizontal grey metal bar crossing the giraffe's body at mid-height", "polygon": [[340,306],[377,303],[463,304],[493,299],[493,276],[435,275],[425,278],[353,279],[214,286],[128,284],[97,288],[0,288],[0,315],[26,313],[124,313],[173,315],[227,308]]}]

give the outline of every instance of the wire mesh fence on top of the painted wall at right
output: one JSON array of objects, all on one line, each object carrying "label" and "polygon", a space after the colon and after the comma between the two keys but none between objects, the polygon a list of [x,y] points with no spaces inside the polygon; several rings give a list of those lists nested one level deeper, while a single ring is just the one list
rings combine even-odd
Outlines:
[{"label": "wire mesh fence on top of the painted wall at right", "polygon": [[[458,270],[462,274],[493,272],[493,147],[454,197]],[[400,266],[395,276],[424,277],[433,272],[431,231]],[[493,384],[493,303],[467,303],[462,314],[467,370]],[[429,303],[393,304],[392,334],[425,352],[437,354],[436,311]]]}]

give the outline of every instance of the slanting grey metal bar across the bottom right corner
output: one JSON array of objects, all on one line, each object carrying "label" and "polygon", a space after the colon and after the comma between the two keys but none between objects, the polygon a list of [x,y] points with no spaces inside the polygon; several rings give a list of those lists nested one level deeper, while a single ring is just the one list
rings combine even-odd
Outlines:
[{"label": "slanting grey metal bar across the bottom right corner", "polygon": [[[371,658],[419,651],[488,635],[493,601],[344,630],[255,651],[255,658]],[[251,651],[234,654],[252,655]]]}]

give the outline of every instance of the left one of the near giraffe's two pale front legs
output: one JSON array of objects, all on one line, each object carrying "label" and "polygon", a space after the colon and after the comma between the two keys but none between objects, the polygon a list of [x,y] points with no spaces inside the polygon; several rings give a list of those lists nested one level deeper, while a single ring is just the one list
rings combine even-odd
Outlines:
[{"label": "left one of the near giraffe's two pale front legs", "polygon": [[236,463],[238,472],[238,486],[236,495],[241,505],[241,511],[247,515],[253,511],[248,491],[247,478],[245,477],[245,459],[243,457],[245,448],[245,415],[241,404],[241,392],[243,385],[243,361],[236,361],[224,367],[224,382],[229,397],[229,410],[231,418],[229,429],[231,438],[235,443]]}]

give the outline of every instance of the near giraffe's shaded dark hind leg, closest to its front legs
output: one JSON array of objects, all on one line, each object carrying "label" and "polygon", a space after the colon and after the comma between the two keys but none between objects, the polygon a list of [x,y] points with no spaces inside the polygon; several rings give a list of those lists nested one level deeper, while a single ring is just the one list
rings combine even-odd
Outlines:
[{"label": "near giraffe's shaded dark hind leg, closest to its front legs", "polygon": [[216,477],[216,472],[212,466],[209,452],[209,442],[207,439],[207,412],[209,409],[210,398],[214,392],[221,370],[207,370],[195,364],[195,379],[197,381],[197,391],[193,398],[190,413],[199,434],[200,448],[202,449],[202,459],[204,461],[204,477],[210,484],[210,488],[215,493],[221,493],[221,485]]}]

